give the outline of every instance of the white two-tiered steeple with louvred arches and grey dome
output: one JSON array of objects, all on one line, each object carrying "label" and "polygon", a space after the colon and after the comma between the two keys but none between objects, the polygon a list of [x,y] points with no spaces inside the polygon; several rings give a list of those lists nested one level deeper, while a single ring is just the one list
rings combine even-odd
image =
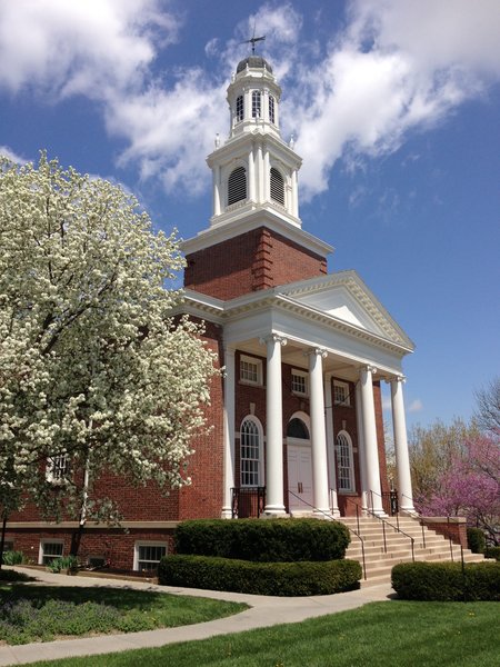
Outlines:
[{"label": "white two-tiered steeple with louvred arches and grey dome", "polygon": [[238,63],[228,87],[229,137],[207,158],[213,173],[210,226],[261,211],[277,222],[301,227],[297,173],[301,158],[281,139],[281,88],[260,56]]}]

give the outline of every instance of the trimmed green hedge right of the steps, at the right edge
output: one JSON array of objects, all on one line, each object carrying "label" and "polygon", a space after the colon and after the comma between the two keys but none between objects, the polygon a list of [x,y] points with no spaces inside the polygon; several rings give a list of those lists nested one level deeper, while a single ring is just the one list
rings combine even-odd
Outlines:
[{"label": "trimmed green hedge right of the steps, at the right edge", "polygon": [[400,563],[392,588],[407,600],[500,600],[498,563]]}]

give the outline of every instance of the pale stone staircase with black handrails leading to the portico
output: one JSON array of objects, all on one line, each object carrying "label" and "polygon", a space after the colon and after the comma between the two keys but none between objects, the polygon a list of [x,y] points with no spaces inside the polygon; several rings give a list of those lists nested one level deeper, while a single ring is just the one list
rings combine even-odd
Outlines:
[{"label": "pale stone staircase with black handrails leading to the portico", "polygon": [[[346,551],[346,558],[358,560],[362,566],[361,540],[354,534],[354,530],[358,530],[356,517],[342,517],[338,520],[348,526],[351,531],[351,544]],[[423,527],[422,536],[422,527],[418,519],[399,517],[401,532],[398,532],[392,527],[397,525],[396,517],[389,517],[387,521],[386,552],[382,521],[374,517],[362,517],[359,519],[359,532],[363,539],[367,570],[367,579],[361,579],[361,587],[387,584],[390,581],[391,570],[394,565],[411,561],[411,539],[408,536],[414,539],[413,551],[416,561],[460,561],[460,546],[453,544],[450,547],[450,541],[446,537],[426,526]],[[484,557],[481,554],[472,554],[469,549],[463,549],[463,560],[466,563],[477,563],[484,560]]]}]

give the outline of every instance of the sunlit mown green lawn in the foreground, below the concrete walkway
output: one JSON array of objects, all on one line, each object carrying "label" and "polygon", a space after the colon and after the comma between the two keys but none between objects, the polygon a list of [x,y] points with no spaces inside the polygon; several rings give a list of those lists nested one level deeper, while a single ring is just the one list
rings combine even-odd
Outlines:
[{"label": "sunlit mown green lawn in the foreground, below the concrete walkway", "polygon": [[[92,656],[92,667],[498,667],[498,603],[372,603],[301,624]],[[89,658],[37,666],[83,667]]]}]

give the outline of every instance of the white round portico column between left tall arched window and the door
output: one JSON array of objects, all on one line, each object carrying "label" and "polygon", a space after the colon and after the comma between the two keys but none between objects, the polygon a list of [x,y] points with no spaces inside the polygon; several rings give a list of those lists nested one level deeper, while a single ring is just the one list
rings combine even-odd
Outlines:
[{"label": "white round portico column between left tall arched window and the door", "polygon": [[283,407],[281,399],[281,346],[284,338],[266,338],[266,514],[284,515],[283,502]]}]

